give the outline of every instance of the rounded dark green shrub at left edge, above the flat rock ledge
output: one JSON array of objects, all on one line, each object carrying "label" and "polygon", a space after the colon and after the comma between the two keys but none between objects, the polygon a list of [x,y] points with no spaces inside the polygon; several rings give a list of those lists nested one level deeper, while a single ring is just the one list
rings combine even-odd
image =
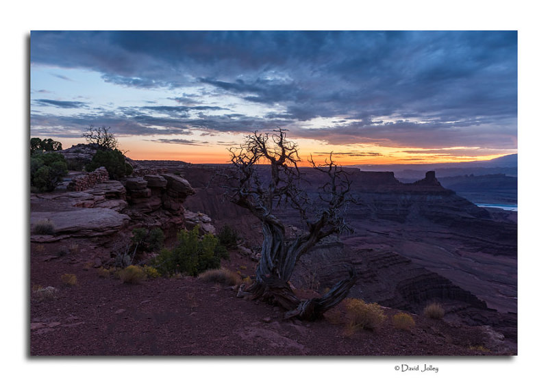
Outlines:
[{"label": "rounded dark green shrub at left edge, above the flat rock ledge", "polygon": [[30,159],[30,185],[32,192],[51,192],[69,172],[64,156],[59,153],[38,153]]}]

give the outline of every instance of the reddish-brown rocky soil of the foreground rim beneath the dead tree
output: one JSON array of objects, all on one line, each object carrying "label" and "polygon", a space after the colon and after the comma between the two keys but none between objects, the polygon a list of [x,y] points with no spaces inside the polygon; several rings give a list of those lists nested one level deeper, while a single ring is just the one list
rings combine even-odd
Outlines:
[{"label": "reddish-brown rocky soil of the foreground rim beneath the dead tree", "polygon": [[[43,248],[42,248],[43,247]],[[86,239],[32,243],[31,355],[508,355],[492,329],[413,315],[409,331],[390,316],[377,331],[349,334],[340,305],[325,320],[284,320],[282,310],[236,298],[236,289],[192,277],[122,283],[93,267]],[[66,253],[60,253],[66,250]],[[251,271],[233,253],[227,268]],[[251,273],[251,272],[250,272]],[[75,274],[64,285],[62,274]],[[38,288],[54,287],[51,294]],[[299,291],[301,296],[313,292]]]}]

